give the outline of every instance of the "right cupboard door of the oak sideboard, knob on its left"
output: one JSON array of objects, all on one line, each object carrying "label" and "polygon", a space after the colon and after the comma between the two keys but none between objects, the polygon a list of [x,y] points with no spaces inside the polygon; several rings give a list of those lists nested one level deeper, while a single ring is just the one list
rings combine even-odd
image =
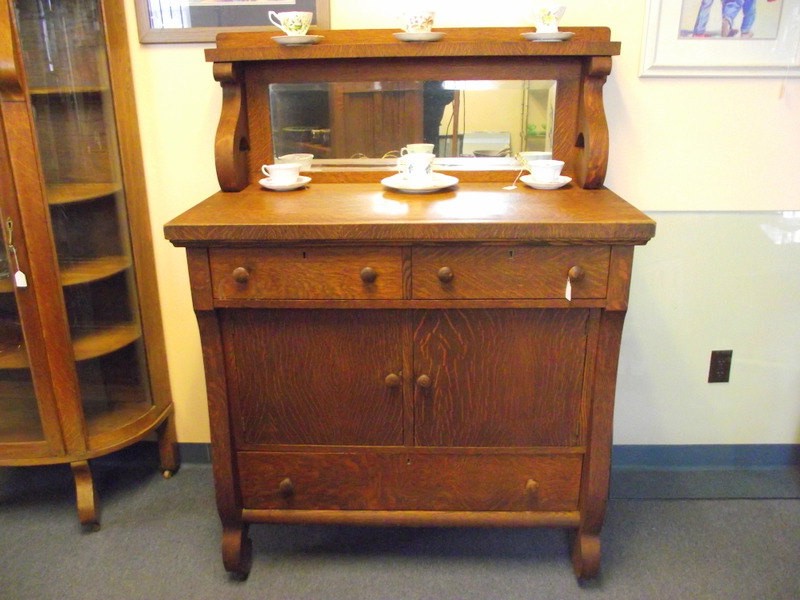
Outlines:
[{"label": "right cupboard door of the oak sideboard, knob on its left", "polygon": [[583,309],[418,311],[416,443],[578,443],[588,318]]}]

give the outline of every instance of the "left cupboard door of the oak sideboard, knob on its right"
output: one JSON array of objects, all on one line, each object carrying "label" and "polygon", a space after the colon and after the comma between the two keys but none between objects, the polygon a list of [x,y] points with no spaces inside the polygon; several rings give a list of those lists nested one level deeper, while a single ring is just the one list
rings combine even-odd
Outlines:
[{"label": "left cupboard door of the oak sideboard, knob on its right", "polygon": [[403,443],[398,311],[221,311],[237,445]]}]

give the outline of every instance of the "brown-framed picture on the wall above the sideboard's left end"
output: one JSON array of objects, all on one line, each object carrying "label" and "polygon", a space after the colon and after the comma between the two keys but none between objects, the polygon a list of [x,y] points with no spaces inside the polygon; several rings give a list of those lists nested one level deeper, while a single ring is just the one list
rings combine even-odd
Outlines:
[{"label": "brown-framed picture on the wall above the sideboard's left end", "polygon": [[[330,29],[330,0],[135,0],[143,44],[213,42],[221,31],[276,29],[269,11],[310,11]],[[277,29],[276,29],[277,30]]]}]

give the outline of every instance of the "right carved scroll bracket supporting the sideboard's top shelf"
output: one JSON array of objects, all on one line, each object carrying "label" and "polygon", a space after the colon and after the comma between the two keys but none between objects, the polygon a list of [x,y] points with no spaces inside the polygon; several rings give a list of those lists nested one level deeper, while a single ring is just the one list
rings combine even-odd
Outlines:
[{"label": "right carved scroll bracket supporting the sideboard's top shelf", "polygon": [[586,63],[582,75],[576,172],[581,186],[586,189],[602,187],[608,168],[608,122],[603,107],[603,85],[609,73],[611,57],[596,56]]}]

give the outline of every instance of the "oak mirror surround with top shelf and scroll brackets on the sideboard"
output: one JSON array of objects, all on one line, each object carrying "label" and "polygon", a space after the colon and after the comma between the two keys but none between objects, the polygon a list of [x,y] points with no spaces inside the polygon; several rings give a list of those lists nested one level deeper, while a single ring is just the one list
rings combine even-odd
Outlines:
[{"label": "oak mirror surround with top shelf and scroll brackets on the sideboard", "polygon": [[[583,188],[602,187],[608,126],[602,88],[619,42],[605,27],[573,28],[572,39],[536,43],[525,28],[442,29],[434,43],[407,43],[391,30],[320,31],[319,44],[278,46],[268,35],[227,33],[206,50],[223,90],[215,160],[223,191],[240,191],[272,161],[270,83],[331,81],[556,80],[553,158]],[[443,171],[447,173],[447,171]],[[324,171],[324,182],[376,182],[388,171]],[[458,171],[462,181],[504,181],[506,171]]]}]

